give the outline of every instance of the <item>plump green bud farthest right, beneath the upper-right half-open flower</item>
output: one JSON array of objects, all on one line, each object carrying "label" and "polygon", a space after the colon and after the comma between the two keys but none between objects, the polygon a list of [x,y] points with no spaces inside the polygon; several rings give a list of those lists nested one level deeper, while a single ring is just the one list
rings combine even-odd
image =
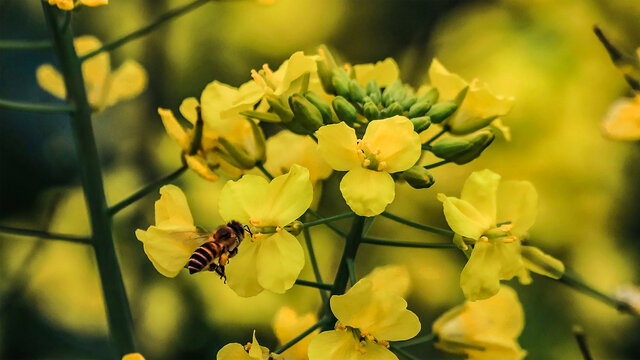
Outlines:
[{"label": "plump green bud farthest right, beneath the upper-right half-open flower", "polygon": [[494,138],[490,130],[466,137],[448,137],[435,143],[431,152],[437,157],[462,165],[480,156]]}]

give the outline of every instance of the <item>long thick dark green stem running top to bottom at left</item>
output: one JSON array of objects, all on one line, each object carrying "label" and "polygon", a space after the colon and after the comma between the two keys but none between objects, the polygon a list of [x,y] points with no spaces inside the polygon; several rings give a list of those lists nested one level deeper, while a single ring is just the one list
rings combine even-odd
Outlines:
[{"label": "long thick dark green stem running top to bottom at left", "polygon": [[119,359],[125,354],[136,352],[133,321],[111,234],[111,220],[108,215],[100,159],[91,124],[91,106],[84,87],[82,63],[73,45],[72,26],[64,32],[60,29],[60,20],[64,21],[65,17],[64,11],[45,2],[42,3],[42,7],[64,77],[67,101],[76,108],[76,111],[71,114],[71,131],[88,207],[93,248],[107,310],[107,322],[115,355]]}]

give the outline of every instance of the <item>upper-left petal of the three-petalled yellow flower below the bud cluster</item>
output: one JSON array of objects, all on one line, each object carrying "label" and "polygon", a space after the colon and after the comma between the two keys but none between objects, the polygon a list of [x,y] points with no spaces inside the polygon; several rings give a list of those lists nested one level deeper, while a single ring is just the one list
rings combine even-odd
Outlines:
[{"label": "upper-left petal of the three-petalled yellow flower below the bud cluster", "polygon": [[349,171],[360,167],[356,131],[344,122],[325,125],[315,133],[318,152],[334,170]]}]

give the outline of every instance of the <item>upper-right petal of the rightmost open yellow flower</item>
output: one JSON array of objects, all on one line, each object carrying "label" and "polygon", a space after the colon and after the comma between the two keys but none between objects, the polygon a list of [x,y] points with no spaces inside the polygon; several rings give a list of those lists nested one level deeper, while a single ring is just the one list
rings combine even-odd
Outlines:
[{"label": "upper-right petal of the rightmost open yellow flower", "polygon": [[498,187],[498,222],[511,221],[511,233],[525,236],[538,215],[538,193],[528,181],[503,181]]}]

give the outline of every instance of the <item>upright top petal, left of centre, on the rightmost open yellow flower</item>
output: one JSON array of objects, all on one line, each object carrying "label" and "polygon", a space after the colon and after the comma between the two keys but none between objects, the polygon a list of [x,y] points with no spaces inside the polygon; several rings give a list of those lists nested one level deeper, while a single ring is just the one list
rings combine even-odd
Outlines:
[{"label": "upright top petal, left of centre, on the rightmost open yellow flower", "polygon": [[462,187],[460,199],[471,204],[491,225],[496,223],[496,197],[500,175],[491,170],[474,171]]}]

